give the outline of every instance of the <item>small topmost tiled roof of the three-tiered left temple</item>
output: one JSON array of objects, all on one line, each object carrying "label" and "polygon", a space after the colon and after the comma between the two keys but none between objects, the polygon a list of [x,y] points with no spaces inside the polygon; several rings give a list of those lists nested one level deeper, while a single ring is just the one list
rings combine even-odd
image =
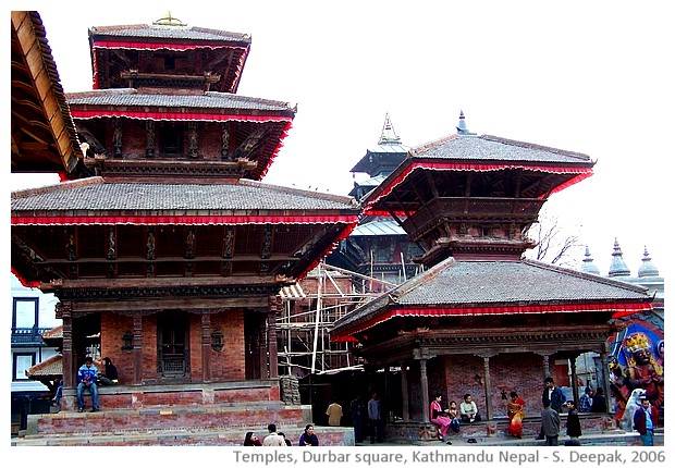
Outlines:
[{"label": "small topmost tiled roof of the three-tiered left temple", "polygon": [[250,42],[250,35],[230,33],[226,30],[208,29],[204,27],[149,26],[147,24],[122,26],[93,26],[89,36],[105,37],[143,37],[159,39],[191,39],[191,40],[226,40]]}]

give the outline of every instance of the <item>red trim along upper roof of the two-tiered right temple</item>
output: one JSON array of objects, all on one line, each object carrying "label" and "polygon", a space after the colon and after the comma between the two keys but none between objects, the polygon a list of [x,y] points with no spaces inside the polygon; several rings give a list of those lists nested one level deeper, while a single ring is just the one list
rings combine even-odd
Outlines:
[{"label": "red trim along upper roof of the two-tiered right temple", "polygon": [[556,193],[570,185],[581,182],[586,177],[590,177],[593,174],[592,168],[578,168],[578,167],[557,167],[550,164],[542,165],[526,165],[526,164],[487,164],[487,163],[471,163],[471,162],[441,162],[441,161],[418,161],[408,165],[401,174],[398,174],[389,185],[386,185],[380,194],[372,200],[368,201],[365,207],[365,214],[370,214],[368,211],[381,198],[390,195],[394,188],[401,185],[407,177],[417,169],[427,169],[432,171],[475,171],[475,172],[488,172],[488,171],[503,171],[505,169],[524,169],[529,171],[540,171],[549,174],[578,174],[576,177],[567,181],[564,184],[555,187],[551,193]]}]

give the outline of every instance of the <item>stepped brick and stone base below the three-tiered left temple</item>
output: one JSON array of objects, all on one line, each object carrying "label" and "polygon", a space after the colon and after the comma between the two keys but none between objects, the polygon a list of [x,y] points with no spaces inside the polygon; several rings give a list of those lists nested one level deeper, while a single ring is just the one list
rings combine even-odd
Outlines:
[{"label": "stepped brick and stone base below the three-tiered left temple", "polygon": [[[297,444],[305,424],[311,422],[311,408],[265,402],[62,410],[29,415],[27,429],[13,445],[242,445],[247,431],[265,436],[269,422]],[[352,428],[317,427],[316,433],[322,445],[354,445]]]}]

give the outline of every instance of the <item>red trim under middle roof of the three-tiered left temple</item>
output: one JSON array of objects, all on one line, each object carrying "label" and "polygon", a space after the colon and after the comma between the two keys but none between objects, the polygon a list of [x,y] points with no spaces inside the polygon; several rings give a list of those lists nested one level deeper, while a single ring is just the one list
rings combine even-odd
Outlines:
[{"label": "red trim under middle roof of the three-tiered left temple", "polygon": [[[83,110],[71,109],[74,119],[96,119],[105,116],[124,116],[127,119],[168,120],[168,121],[241,121],[241,122],[292,122],[289,115],[249,115],[249,114],[220,114],[198,112],[151,112],[125,110]],[[286,127],[287,130],[287,127]]]}]

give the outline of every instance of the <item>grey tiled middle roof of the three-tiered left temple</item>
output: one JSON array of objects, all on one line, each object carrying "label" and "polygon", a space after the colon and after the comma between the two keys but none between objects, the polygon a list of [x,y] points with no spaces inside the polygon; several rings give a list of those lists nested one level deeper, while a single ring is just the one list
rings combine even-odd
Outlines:
[{"label": "grey tiled middle roof of the three-tiered left temple", "polygon": [[97,89],[66,95],[70,106],[124,106],[194,109],[235,109],[256,111],[292,111],[289,102],[250,98],[230,93],[207,91],[200,95],[142,94],[133,88]]}]

